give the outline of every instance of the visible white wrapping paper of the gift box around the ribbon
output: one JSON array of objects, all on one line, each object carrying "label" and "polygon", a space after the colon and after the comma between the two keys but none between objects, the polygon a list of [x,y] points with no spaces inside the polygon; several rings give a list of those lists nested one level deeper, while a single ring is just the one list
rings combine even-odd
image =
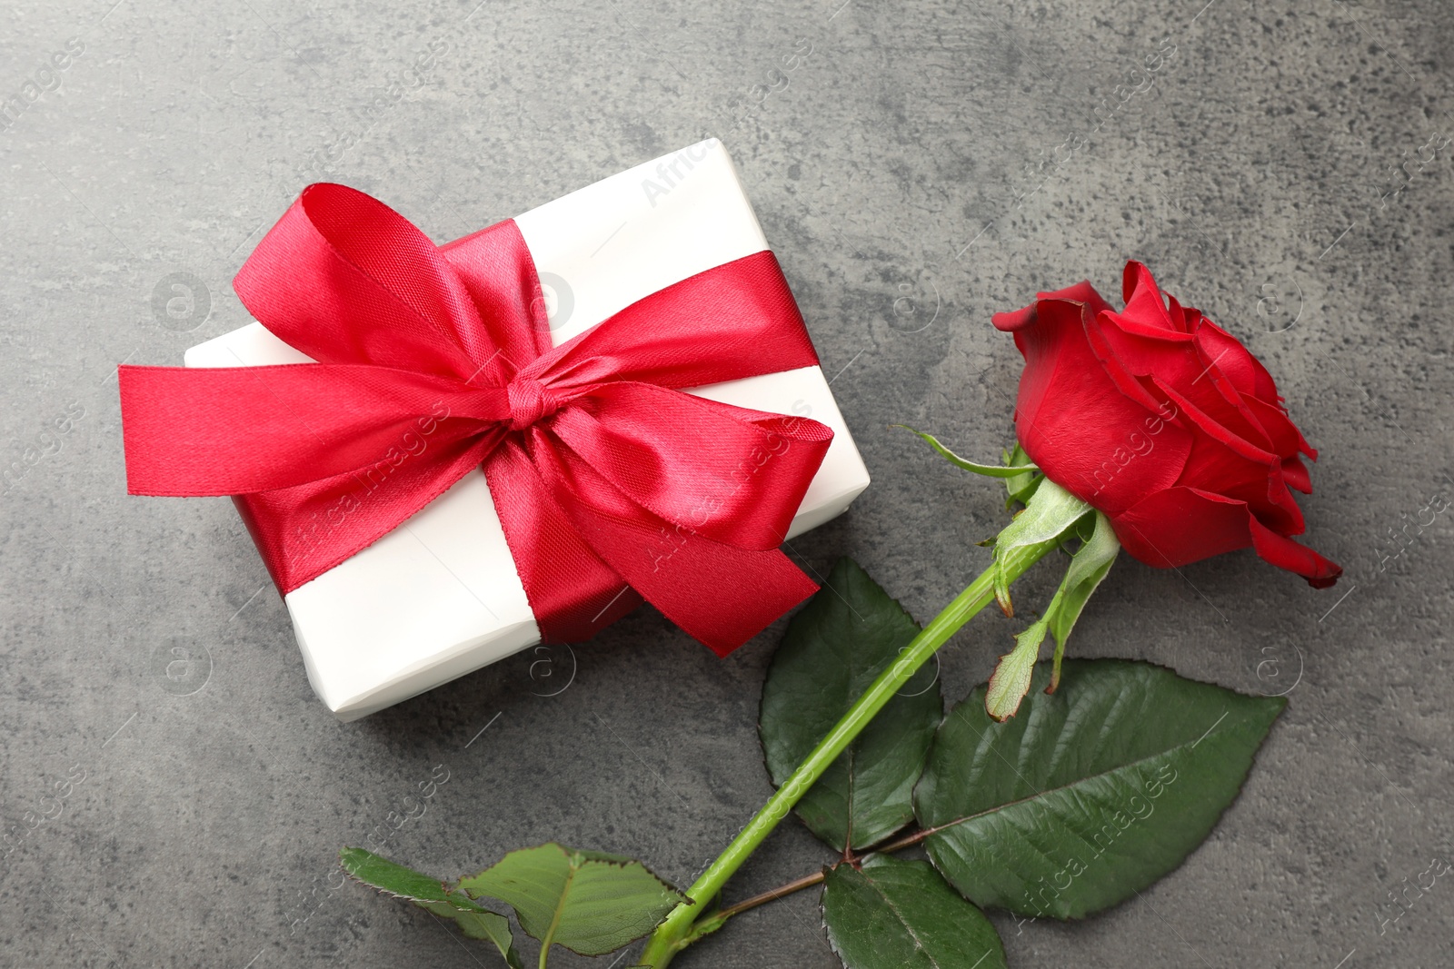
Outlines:
[{"label": "visible white wrapping paper of the gift box around the ribbon", "polygon": [[[571,192],[515,222],[541,276],[555,346],[659,289],[768,248],[731,158],[715,138]],[[198,368],[310,362],[260,323],[186,352],[186,365]],[[790,539],[840,514],[868,487],[868,469],[822,369],[766,373],[688,394],[811,417],[833,429]],[[343,721],[407,700],[541,638],[478,468],[284,601],[308,680]]]}]

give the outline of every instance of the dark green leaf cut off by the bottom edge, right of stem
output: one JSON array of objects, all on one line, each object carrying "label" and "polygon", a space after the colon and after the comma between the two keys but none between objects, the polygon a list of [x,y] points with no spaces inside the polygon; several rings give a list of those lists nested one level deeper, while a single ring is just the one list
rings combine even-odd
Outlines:
[{"label": "dark green leaf cut off by the bottom edge, right of stem", "polygon": [[999,933],[923,861],[875,854],[823,882],[823,927],[848,969],[1005,969]]}]

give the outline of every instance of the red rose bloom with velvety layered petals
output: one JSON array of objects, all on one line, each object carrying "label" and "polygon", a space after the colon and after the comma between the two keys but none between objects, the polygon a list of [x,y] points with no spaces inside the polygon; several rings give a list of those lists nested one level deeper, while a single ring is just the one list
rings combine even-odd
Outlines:
[{"label": "red rose bloom with velvety layered petals", "polygon": [[1015,429],[1053,481],[1104,511],[1154,567],[1256,549],[1326,588],[1342,568],[1291,540],[1317,459],[1266,369],[1226,330],[1125,264],[1125,309],[1090,283],[995,314],[1025,356]]}]

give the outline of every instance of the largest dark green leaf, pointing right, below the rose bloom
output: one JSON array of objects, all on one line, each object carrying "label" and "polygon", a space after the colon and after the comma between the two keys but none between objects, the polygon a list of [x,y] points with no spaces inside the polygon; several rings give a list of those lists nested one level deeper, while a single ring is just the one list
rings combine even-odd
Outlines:
[{"label": "largest dark green leaf, pointing right, below the rose bloom", "polygon": [[[1040,664],[1044,686],[1050,664]],[[915,792],[935,866],[965,898],[1080,918],[1162,877],[1237,796],[1285,700],[1122,660],[1067,660],[1054,694],[996,723],[984,687],[939,728]]]}]

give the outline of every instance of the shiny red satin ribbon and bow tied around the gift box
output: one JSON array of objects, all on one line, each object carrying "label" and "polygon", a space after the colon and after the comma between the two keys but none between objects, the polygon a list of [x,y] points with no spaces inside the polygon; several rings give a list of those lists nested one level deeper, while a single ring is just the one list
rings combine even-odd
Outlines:
[{"label": "shiny red satin ribbon and bow tied around the gift box", "polygon": [[778,545],[833,431],[682,392],[817,363],[771,251],[553,347],[513,221],[436,247],[313,185],[234,289],[317,363],[121,368],[126,482],[236,495],[282,593],[481,463],[547,639],[644,597],[726,655],[816,591]]}]

